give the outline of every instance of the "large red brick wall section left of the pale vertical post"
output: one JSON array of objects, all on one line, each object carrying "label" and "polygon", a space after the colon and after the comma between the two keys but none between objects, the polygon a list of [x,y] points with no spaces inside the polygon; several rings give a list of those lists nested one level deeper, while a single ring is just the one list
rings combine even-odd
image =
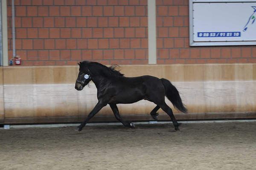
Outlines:
[{"label": "large red brick wall section left of the pale vertical post", "polygon": [[[9,59],[12,10],[8,0]],[[15,0],[22,65],[148,63],[147,0]]]}]

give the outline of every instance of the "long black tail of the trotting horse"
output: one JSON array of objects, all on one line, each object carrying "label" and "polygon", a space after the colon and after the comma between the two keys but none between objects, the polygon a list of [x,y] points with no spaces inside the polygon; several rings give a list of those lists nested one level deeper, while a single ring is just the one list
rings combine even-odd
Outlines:
[{"label": "long black tail of the trotting horse", "polygon": [[180,98],[180,94],[179,94],[178,90],[176,89],[176,87],[174,85],[172,85],[169,80],[166,80],[165,78],[161,78],[160,80],[162,81],[163,86],[165,88],[166,97],[169,99],[169,101],[172,102],[175,109],[178,109],[183,113],[186,113],[187,109],[186,109],[186,107],[184,107],[184,105],[181,101],[181,98]]}]

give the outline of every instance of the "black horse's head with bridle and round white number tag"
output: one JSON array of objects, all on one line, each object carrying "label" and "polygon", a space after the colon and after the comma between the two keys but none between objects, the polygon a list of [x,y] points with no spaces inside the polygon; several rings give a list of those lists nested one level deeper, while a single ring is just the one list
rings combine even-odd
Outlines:
[{"label": "black horse's head with bridle and round white number tag", "polygon": [[82,90],[91,80],[90,70],[87,66],[84,66],[83,63],[78,63],[79,73],[76,79],[75,89]]}]

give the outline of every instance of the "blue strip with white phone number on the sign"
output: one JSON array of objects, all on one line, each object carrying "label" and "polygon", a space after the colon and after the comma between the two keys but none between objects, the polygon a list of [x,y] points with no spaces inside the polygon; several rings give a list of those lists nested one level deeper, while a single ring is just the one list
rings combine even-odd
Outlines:
[{"label": "blue strip with white phone number on the sign", "polygon": [[241,37],[241,32],[198,32],[198,37]]}]

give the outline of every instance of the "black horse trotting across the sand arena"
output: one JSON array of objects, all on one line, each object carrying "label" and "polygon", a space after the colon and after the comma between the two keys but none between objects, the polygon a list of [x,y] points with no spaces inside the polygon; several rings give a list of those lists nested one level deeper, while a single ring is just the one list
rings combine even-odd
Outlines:
[{"label": "black horse trotting across the sand arena", "polygon": [[76,130],[81,131],[87,122],[99,112],[102,107],[110,105],[115,117],[126,127],[135,127],[132,122],[124,121],[119,115],[116,104],[131,104],[140,100],[154,102],[157,106],[151,111],[151,116],[157,120],[157,110],[162,108],[172,119],[175,130],[179,125],[173,115],[172,109],[166,104],[165,96],[176,109],[186,113],[179,92],[164,78],[150,75],[128,78],[115,70],[115,66],[104,66],[100,63],[83,61],[79,63],[79,74],[75,88],[82,90],[90,81],[97,87],[98,103],[83,123]]}]

